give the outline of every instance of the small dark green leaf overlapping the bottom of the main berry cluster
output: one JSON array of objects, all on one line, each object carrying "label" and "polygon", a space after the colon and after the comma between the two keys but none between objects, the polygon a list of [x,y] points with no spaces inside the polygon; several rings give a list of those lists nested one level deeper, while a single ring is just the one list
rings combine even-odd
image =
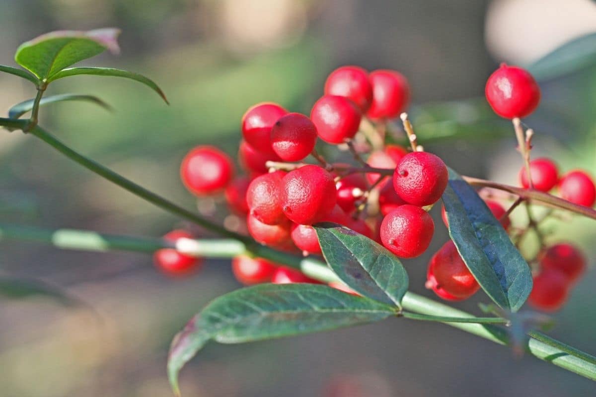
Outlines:
[{"label": "small dark green leaf overlapping the bottom of the main berry cluster", "polygon": [[327,264],[347,286],[368,298],[401,307],[408,273],[387,248],[347,227],[315,226]]}]

